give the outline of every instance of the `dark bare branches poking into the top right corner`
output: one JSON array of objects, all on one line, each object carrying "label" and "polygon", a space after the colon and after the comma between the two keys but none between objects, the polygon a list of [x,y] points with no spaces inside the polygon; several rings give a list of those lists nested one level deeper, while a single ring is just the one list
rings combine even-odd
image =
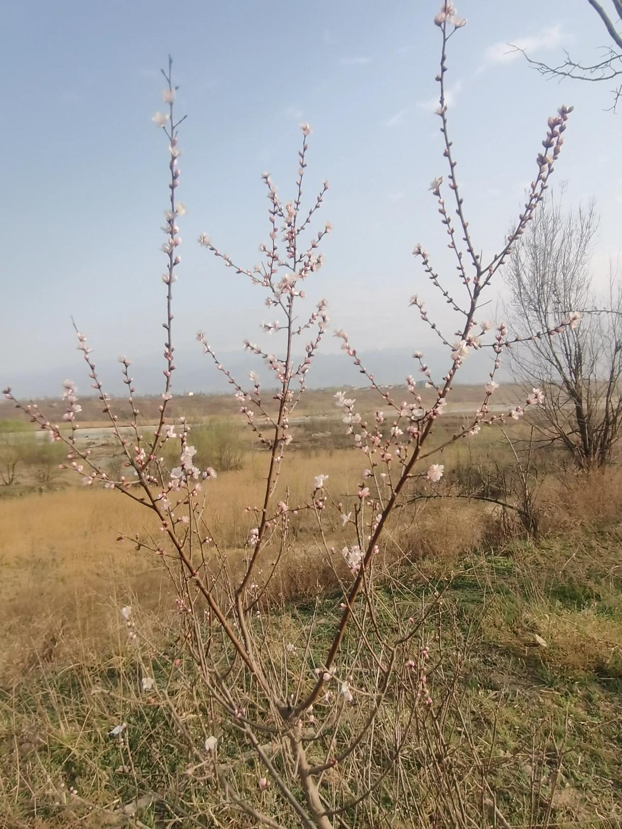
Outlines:
[{"label": "dark bare branches poking into the top right corner", "polygon": [[[620,79],[622,79],[622,33],[620,32],[622,0],[611,0],[615,15],[608,12],[597,0],[587,0],[587,2],[600,17],[612,41],[611,45],[600,47],[600,60],[593,62],[575,61],[565,51],[564,61],[556,66],[550,66],[547,63],[542,63],[542,61],[532,60],[525,51],[521,51],[527,61],[547,78],[572,78],[573,80],[586,81],[613,80],[616,84],[611,90],[614,103],[609,109],[615,112],[620,97],[622,97],[622,83],[620,83]],[[617,20],[615,20],[615,17],[617,17]]]}]

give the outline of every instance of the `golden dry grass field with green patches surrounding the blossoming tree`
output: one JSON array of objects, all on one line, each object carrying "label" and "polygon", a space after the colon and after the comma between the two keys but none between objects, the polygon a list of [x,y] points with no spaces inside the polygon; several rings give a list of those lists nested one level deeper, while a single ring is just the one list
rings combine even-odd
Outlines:
[{"label": "golden dry grass field with green patches surrounding the blossoming tree", "polygon": [[[301,506],[314,475],[328,475],[335,497],[345,499],[362,473],[339,424],[326,427],[328,394],[322,400],[294,426],[279,479]],[[464,405],[471,402],[465,393]],[[197,424],[229,446],[233,468],[207,485],[210,529],[235,566],[253,523],[245,507],[260,497],[267,458],[216,414]],[[459,416],[447,419],[440,441]],[[529,429],[510,434],[524,441]],[[110,448],[102,441],[95,451],[106,457]],[[438,626],[426,635],[447,676],[455,667],[454,694],[476,734],[473,746],[456,742],[455,768],[466,780],[474,752],[486,755],[513,827],[620,826],[622,473],[580,475],[556,453],[536,453],[536,540],[512,510],[459,497],[485,491],[516,502],[513,454],[498,431],[453,444],[442,463],[449,497],[393,516],[377,589],[386,591],[387,623],[398,610],[416,613],[422,591],[442,597]],[[178,638],[175,594],[161,560],[116,541],[157,531],[148,512],[118,492],[76,486],[66,472],[45,480],[37,469],[30,458],[16,482],[0,487],[0,826],[254,825],[231,817],[216,789],[187,773],[191,759],[168,705],[174,701],[187,728],[200,734],[207,726],[193,719],[200,686]],[[337,618],[339,556],[326,560],[312,521],[301,513],[299,537],[265,599],[269,613],[258,621],[275,653],[285,640],[304,641],[312,617],[325,622],[327,636]],[[339,549],[341,522],[329,522],[327,532]],[[128,647],[119,617],[126,604],[136,614],[138,650]],[[139,690],[141,670],[158,677],[160,690]],[[107,738],[122,721],[130,725],[125,746]],[[241,787],[257,773],[249,761]],[[327,777],[324,785],[336,782]],[[270,792],[265,803],[279,808]]]}]

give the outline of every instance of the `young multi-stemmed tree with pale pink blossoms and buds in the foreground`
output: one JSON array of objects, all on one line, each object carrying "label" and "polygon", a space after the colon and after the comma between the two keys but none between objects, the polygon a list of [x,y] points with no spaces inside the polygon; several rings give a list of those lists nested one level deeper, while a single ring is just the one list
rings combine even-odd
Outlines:
[{"label": "young multi-stemmed tree with pale pink blossoms and buds in the foreground", "polygon": [[[440,32],[436,114],[444,142],[447,181],[445,184],[443,176],[435,177],[430,190],[455,257],[456,284],[441,278],[421,245],[415,246],[414,254],[432,288],[442,293],[458,323],[455,332],[442,331],[430,320],[420,295],[412,296],[411,306],[439,337],[447,356],[445,375],[435,377],[425,356],[415,351],[415,361],[434,390],[432,405],[424,405],[412,376],[406,378],[406,400],[381,390],[362,366],[347,333],[336,332],[343,351],[379,395],[372,422],[362,418],[356,400],[343,392],[335,395],[335,404],[343,413],[344,429],[351,436],[354,451],[361,453],[362,458],[360,481],[348,502],[351,506],[345,506],[331,491],[330,478],[322,470],[309,471],[309,497],[304,503],[290,502],[289,495],[283,496],[277,488],[291,442],[290,419],[304,395],[313,358],[328,327],[327,303],[323,299],[301,316],[306,286],[323,264],[319,246],[331,230],[328,223],[313,230],[328,183],[324,182],[311,204],[304,207],[310,128],[303,124],[298,177],[291,200],[283,201],[270,176],[264,176],[270,221],[269,241],[261,245],[264,263],[245,268],[221,252],[207,235],[199,238],[199,244],[221,259],[226,268],[265,293],[265,305],[279,319],[265,323],[263,328],[280,337],[275,353],[245,342],[246,349],[262,360],[274,376],[278,389],[274,406],[269,405],[270,395],[266,400],[255,372],[250,373],[250,384],[232,376],[221,365],[205,335],[199,332],[197,336],[207,356],[233,386],[248,428],[268,450],[264,496],[258,507],[251,508],[255,526],[248,536],[241,567],[232,564],[226,548],[211,529],[211,487],[218,485],[217,470],[196,465],[190,424],[183,417],[173,422],[169,416],[176,369],[173,286],[181,264],[178,225],[185,213],[182,202],[177,200],[179,127],[183,119],[176,115],[177,88],[173,85],[170,61],[163,73],[167,81],[163,93],[166,112],[158,112],[153,118],[167,139],[170,173],[162,245],[166,260],[162,278],[166,305],[164,381],[153,434],[144,434],[138,419],[130,361],[121,360],[129,405],[129,414],[123,414],[109,400],[87,337],[80,332],[78,347],[102,410],[124,453],[126,475],[110,478],[90,451],[80,447],[76,439],[80,404],[72,382],[66,382],[63,394],[68,431],[52,423],[36,405],[22,404],[10,389],[5,390],[7,398],[45,429],[51,440],[66,444],[67,468],[85,486],[108,487],[122,493],[154,516],[159,535],[147,539],[137,535],[132,541],[137,550],[160,557],[176,586],[183,638],[211,701],[211,715],[202,716],[201,730],[193,731],[175,710],[168,692],[158,689],[153,676],[142,677],[143,690],[161,695],[163,705],[171,709],[175,728],[187,738],[191,756],[197,761],[188,774],[214,783],[227,807],[241,812],[244,821],[265,826],[295,824],[329,829],[354,826],[355,822],[376,826],[381,821],[387,825],[391,816],[396,820],[393,825],[398,825],[413,814],[418,814],[422,821],[432,820],[435,826],[467,827],[474,822],[483,825],[473,817],[474,804],[483,803],[491,791],[490,784],[484,781],[479,784],[477,797],[474,795],[469,802],[453,794],[459,790],[460,781],[449,764],[449,744],[443,731],[450,695],[435,699],[430,683],[434,666],[430,665],[430,647],[423,633],[425,619],[439,601],[438,594],[430,593],[412,618],[397,616],[390,626],[380,625],[377,609],[385,599],[376,588],[375,562],[386,543],[391,516],[404,505],[409,487],[440,485],[445,468],[438,463],[438,455],[445,445],[476,436],[484,424],[518,419],[528,407],[542,400],[542,392],[534,389],[527,400],[507,413],[493,414],[490,400],[498,387],[495,376],[503,351],[517,342],[517,337],[508,332],[503,322],[493,327],[482,320],[481,305],[486,290],[498,277],[513,245],[542,201],[561,151],[571,108],[562,106],[548,120],[527,201],[514,230],[503,241],[498,254],[483,259],[477,253],[479,249],[460,195],[445,88],[449,42],[464,27],[465,20],[457,16],[453,3],[443,2],[434,23]],[[556,323],[555,330],[566,324]],[[545,336],[552,332],[538,332],[537,336],[541,333]],[[298,358],[296,343],[304,339],[304,357]],[[482,384],[481,404],[469,422],[449,439],[435,439],[435,424],[445,411],[461,366],[472,351],[484,347],[493,350],[494,361],[488,380]],[[124,423],[131,429],[131,439],[120,429]],[[163,449],[171,445],[176,447],[178,462],[168,468]],[[349,536],[340,554],[333,550],[327,530],[327,516],[335,512]],[[293,531],[302,513],[313,516],[313,543],[334,568],[343,594],[334,626],[327,630],[325,623],[312,614],[304,642],[284,641],[280,652],[275,653],[264,647],[271,621],[270,613],[262,610],[279,562],[295,550]],[[342,559],[344,570],[338,566]],[[129,647],[140,652],[141,638],[132,608],[124,607],[121,615],[129,631]],[[110,732],[112,737],[124,739],[129,726],[123,723],[116,728],[117,733]],[[198,734],[202,734],[200,739]],[[427,745],[429,752],[421,753],[423,749],[416,748],[414,735],[415,743]],[[259,769],[254,787],[236,776],[236,768],[247,763],[249,756]],[[404,765],[406,758],[409,759]],[[441,760],[437,762],[438,758]],[[406,771],[408,775],[419,775],[418,788],[402,787],[400,781]],[[397,781],[401,797],[398,801],[391,799],[387,806],[383,798],[388,797],[390,781]],[[498,810],[493,812],[497,814]],[[499,821],[502,818],[498,816]]]}]

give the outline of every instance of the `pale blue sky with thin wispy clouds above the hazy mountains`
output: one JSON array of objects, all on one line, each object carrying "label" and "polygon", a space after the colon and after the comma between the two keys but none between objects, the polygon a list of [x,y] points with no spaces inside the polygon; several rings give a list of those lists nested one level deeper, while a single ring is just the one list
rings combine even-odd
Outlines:
[{"label": "pale blue sky with thin wispy clouds above the hazy mountains", "polygon": [[[462,0],[468,24],[449,52],[450,123],[477,244],[497,248],[535,172],[546,120],[575,104],[556,179],[568,201],[595,196],[602,214],[595,274],[619,252],[620,118],[609,86],[543,80],[521,58],[563,48],[592,56],[606,38],[585,0]],[[311,197],[327,178],[333,222],[326,266],[307,285],[335,327],[370,347],[425,347],[408,298],[430,293],[411,255],[420,241],[451,278],[430,179],[445,173],[437,118],[436,0],[33,2],[9,4],[2,50],[7,201],[0,381],[76,363],[70,315],[97,356],[158,360],[162,342],[167,142],[162,108],[168,52],[188,114],[180,147],[180,352],[198,328],[220,351],[260,341],[264,296],[197,243],[206,231],[251,266],[267,236],[269,171],[287,196],[299,122],[309,121]],[[328,343],[330,349],[337,341]],[[59,381],[62,377],[59,376]]]}]

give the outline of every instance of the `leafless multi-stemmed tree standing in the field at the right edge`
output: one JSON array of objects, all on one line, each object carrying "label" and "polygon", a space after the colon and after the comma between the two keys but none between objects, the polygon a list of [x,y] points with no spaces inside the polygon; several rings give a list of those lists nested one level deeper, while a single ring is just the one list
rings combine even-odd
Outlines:
[{"label": "leafless multi-stemmed tree standing in the field at the right edge", "polygon": [[[530,342],[513,353],[515,379],[546,388],[539,428],[581,468],[610,460],[622,425],[622,293],[612,273],[606,302],[599,303],[606,307],[595,310],[590,259],[598,222],[593,202],[566,212],[562,196],[550,197],[508,269],[508,314]],[[547,324],[554,318],[568,324],[556,330]]]}]

